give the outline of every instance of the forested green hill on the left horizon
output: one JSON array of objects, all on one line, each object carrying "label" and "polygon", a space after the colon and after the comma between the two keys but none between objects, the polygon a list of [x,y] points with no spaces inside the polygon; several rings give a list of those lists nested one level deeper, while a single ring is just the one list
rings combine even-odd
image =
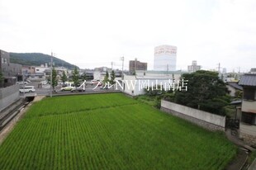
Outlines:
[{"label": "forested green hill on the left horizon", "polygon": [[[35,65],[40,66],[41,64],[47,63],[50,66],[50,55],[41,53],[10,53],[10,62],[21,65]],[[53,57],[53,63],[55,67],[65,67],[73,69],[76,65],[69,64],[63,59]],[[77,67],[78,68],[78,67]]]}]

